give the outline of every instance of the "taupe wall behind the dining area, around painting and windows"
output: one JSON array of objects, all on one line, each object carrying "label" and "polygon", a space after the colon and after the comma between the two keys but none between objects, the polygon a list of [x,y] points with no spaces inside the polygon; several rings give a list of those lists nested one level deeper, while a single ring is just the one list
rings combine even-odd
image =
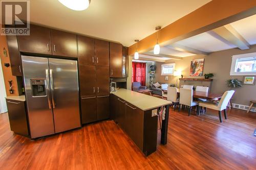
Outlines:
[{"label": "taupe wall behind the dining area, around painting and windows", "polygon": [[[182,60],[168,60],[165,63],[176,63],[176,70],[181,70],[184,78],[189,78],[189,68],[190,61],[193,59],[204,58],[204,74],[213,73],[214,81],[212,82],[212,93],[223,93],[229,90],[226,85],[226,80],[231,78],[237,78],[242,81],[243,76],[229,76],[231,67],[231,57],[237,54],[246,54],[256,52],[256,45],[251,45],[249,50],[239,50],[238,48],[233,48],[230,50],[224,50],[220,52],[211,53],[208,56],[191,56],[185,57]],[[165,64],[164,63],[164,64]],[[161,76],[161,64],[156,62],[156,79],[155,82],[166,82],[176,84],[177,77],[169,76],[168,81],[164,81],[165,76]],[[193,77],[193,78],[204,78],[204,77]],[[241,105],[249,105],[250,100],[256,100],[256,85],[243,85],[241,88],[235,89],[236,92],[233,96],[233,103]]]}]

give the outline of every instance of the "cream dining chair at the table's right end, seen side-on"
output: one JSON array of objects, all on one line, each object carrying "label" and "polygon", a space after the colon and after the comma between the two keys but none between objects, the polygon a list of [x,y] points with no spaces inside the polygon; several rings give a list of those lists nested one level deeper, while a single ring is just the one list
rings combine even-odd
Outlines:
[{"label": "cream dining chair at the table's right end, seen side-on", "polygon": [[[214,109],[214,110],[218,110],[219,111],[219,118],[220,118],[220,122],[222,123],[222,117],[221,117],[221,111],[224,110],[224,116],[225,119],[227,119],[227,104],[229,103],[232,95],[234,93],[234,90],[229,90],[226,91],[223,95],[222,98],[220,100],[219,103],[215,103],[215,102],[199,102],[199,107],[201,109],[201,107],[206,107],[209,109]],[[197,113],[200,115],[199,110],[197,111]]]}]

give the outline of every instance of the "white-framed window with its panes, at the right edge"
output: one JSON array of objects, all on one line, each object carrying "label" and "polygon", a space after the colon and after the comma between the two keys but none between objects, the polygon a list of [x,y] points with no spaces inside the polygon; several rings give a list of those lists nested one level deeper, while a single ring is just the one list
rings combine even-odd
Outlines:
[{"label": "white-framed window with its panes, at the right edge", "polygon": [[230,76],[256,75],[256,53],[232,56]]}]

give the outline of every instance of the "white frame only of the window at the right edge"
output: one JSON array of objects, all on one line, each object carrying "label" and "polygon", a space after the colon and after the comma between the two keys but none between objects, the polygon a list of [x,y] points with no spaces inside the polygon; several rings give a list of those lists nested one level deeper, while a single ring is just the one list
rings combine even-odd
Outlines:
[{"label": "white frame only of the window at the right edge", "polygon": [[233,55],[231,68],[230,68],[230,76],[256,76],[256,71],[255,72],[254,71],[247,71],[247,72],[236,72],[235,71],[238,59],[250,58],[250,57],[256,57],[256,53]]}]

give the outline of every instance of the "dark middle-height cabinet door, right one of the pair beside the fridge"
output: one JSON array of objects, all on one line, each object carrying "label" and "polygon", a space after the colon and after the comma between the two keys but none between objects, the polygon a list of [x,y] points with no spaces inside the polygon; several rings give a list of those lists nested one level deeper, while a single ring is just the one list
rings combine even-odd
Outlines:
[{"label": "dark middle-height cabinet door, right one of the pair beside the fridge", "polygon": [[96,66],[96,92],[97,96],[110,94],[109,67]]}]

